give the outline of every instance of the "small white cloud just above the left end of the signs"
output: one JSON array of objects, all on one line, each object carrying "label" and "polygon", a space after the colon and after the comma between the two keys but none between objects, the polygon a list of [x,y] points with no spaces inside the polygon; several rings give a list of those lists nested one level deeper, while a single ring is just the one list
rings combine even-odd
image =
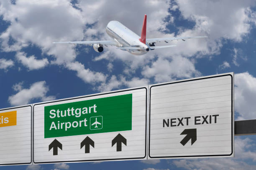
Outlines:
[{"label": "small white cloud just above the left end of the signs", "polygon": [[54,96],[46,96],[49,87],[46,86],[45,81],[33,83],[29,89],[22,87],[22,83],[13,85],[13,89],[18,91],[15,95],[11,95],[8,101],[11,105],[26,105],[33,99],[40,99],[41,101],[54,100]]}]

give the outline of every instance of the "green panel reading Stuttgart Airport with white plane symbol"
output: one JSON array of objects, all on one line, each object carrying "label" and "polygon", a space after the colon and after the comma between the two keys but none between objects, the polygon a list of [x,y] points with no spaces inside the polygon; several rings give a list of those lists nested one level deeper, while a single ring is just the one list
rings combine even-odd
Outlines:
[{"label": "green panel reading Stuttgart Airport with white plane symbol", "polygon": [[44,138],[132,130],[132,94],[44,107]]}]

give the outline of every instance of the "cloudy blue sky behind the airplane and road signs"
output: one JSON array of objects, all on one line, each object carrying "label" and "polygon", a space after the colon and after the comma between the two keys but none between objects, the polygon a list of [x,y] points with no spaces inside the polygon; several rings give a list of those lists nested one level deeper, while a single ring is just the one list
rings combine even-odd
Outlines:
[{"label": "cloudy blue sky behind the airplane and road signs", "polygon": [[[118,20],[147,38],[208,36],[135,56],[54,41],[111,40]],[[234,72],[235,120],[256,114],[255,0],[0,0],[0,108]],[[166,45],[166,44],[159,44]],[[3,170],[254,170],[256,137],[235,137],[234,158],[4,166]]]}]

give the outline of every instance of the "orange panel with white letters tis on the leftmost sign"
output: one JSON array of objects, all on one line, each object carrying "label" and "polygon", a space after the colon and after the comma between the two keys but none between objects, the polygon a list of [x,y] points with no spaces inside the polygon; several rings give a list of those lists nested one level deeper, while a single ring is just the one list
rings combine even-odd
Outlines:
[{"label": "orange panel with white letters tis on the leftmost sign", "polygon": [[17,124],[17,111],[0,113],[0,127],[15,126]]}]

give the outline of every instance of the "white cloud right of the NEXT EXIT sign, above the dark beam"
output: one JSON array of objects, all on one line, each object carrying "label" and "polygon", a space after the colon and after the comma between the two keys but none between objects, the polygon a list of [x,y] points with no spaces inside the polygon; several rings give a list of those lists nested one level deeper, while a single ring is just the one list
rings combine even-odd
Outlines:
[{"label": "white cloud right of the NEXT EXIT sign, above the dark beam", "polygon": [[256,119],[256,77],[248,72],[235,75],[235,111],[238,120]]}]

